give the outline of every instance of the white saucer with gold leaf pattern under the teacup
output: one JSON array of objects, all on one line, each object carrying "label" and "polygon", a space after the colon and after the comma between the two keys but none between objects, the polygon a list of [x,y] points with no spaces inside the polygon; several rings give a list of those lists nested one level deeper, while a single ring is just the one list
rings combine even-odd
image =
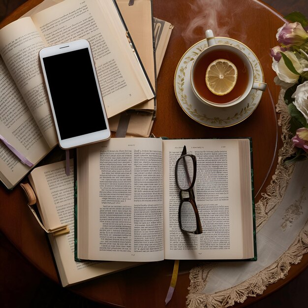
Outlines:
[{"label": "white saucer with gold leaf pattern under the teacup", "polygon": [[[243,43],[229,38],[216,37],[217,44],[228,44],[239,48],[252,64],[254,80],[264,82],[261,64],[255,54]],[[181,58],[174,76],[174,90],[183,111],[194,121],[210,127],[228,127],[248,118],[257,108],[263,91],[251,90],[240,103],[226,108],[215,108],[202,103],[190,85],[190,68],[195,57],[208,47],[204,39],[191,46]]]}]

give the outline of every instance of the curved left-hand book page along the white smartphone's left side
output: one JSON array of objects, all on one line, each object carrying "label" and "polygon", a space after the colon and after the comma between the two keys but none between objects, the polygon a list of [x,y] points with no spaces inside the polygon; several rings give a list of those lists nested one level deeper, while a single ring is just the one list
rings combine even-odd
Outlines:
[{"label": "curved left-hand book page along the white smartphone's left side", "polygon": [[58,140],[38,60],[38,52],[43,47],[44,43],[29,17],[0,29],[0,55],[52,148]]}]

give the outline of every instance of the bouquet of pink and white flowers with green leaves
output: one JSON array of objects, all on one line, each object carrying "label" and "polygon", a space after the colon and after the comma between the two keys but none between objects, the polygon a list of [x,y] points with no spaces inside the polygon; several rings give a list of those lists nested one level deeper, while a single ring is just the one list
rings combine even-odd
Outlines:
[{"label": "bouquet of pink and white flowers with green leaves", "polygon": [[271,49],[276,85],[285,89],[284,101],[290,115],[289,132],[294,153],[286,163],[308,158],[308,19],[293,12],[290,21],[277,30],[279,43]]}]

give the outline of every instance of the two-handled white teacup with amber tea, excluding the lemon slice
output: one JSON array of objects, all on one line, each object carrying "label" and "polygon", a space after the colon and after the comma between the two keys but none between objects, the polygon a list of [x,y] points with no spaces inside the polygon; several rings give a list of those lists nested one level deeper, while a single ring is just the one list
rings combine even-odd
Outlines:
[{"label": "two-handled white teacup with amber tea, excluding the lemon slice", "polygon": [[[252,64],[244,52],[231,45],[217,44],[212,30],[207,30],[205,33],[209,47],[195,58],[190,71],[191,87],[199,100],[210,106],[229,107],[243,101],[252,89],[266,90],[266,83],[254,80]],[[218,59],[232,62],[237,68],[234,88],[223,95],[211,92],[206,85],[206,70]]]}]

